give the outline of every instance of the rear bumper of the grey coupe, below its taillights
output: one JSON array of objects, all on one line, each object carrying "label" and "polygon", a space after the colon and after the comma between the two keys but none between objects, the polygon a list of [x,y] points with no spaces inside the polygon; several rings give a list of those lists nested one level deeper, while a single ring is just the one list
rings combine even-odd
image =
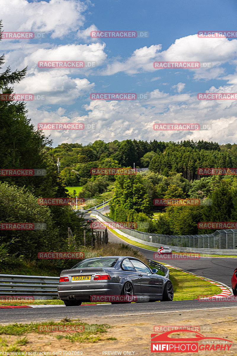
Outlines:
[{"label": "rear bumper of the grey coupe, below its taillights", "polygon": [[75,297],[78,300],[90,300],[91,295],[120,295],[122,284],[119,283],[93,283],[75,284],[68,283],[57,286],[58,296],[61,300]]}]

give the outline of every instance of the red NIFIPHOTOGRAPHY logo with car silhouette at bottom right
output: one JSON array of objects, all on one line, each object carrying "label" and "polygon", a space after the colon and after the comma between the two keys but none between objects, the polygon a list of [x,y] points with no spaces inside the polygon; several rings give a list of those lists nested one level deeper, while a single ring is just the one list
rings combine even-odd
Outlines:
[{"label": "red NIFIPHOTOGRAPHY logo with car silhouette at bottom right", "polygon": [[177,334],[177,331],[151,334],[151,352],[229,351],[233,342],[220,337],[205,337],[187,329],[179,329],[178,333],[189,333],[190,337],[172,337],[173,333]]}]

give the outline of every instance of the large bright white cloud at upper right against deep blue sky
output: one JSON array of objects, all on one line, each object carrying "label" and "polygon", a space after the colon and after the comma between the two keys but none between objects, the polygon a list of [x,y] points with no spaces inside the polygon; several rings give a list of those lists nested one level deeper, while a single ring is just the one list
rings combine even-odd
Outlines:
[{"label": "large bright white cloud at upper right against deep blue sky", "polygon": [[[193,61],[211,62],[212,66],[220,66],[223,63],[235,63],[237,54],[237,40],[229,41],[227,38],[199,38],[197,35],[190,35],[177,39],[167,50],[161,51],[161,45],[152,45],[136,49],[133,54],[124,61],[113,59],[108,64],[103,75],[112,75],[125,72],[133,75],[141,72],[153,72],[153,62],[155,61]],[[175,69],[168,69],[175,70]],[[212,69],[196,68],[181,69],[182,71],[193,71],[194,79],[214,79],[225,73],[223,68],[214,67]],[[175,74],[175,73],[174,73]]]}]

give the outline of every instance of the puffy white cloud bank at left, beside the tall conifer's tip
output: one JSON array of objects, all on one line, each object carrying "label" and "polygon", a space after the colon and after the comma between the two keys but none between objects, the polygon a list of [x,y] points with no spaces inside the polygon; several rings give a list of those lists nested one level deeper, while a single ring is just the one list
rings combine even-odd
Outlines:
[{"label": "puffy white cloud bank at left, beside the tall conifer's tip", "polygon": [[[47,60],[82,60],[96,61],[97,66],[106,59],[103,43],[90,45],[61,45],[51,48],[39,48],[40,45],[24,43],[21,49],[10,51],[6,55],[7,63],[12,69],[28,66],[27,76],[19,84],[15,84],[16,93],[32,93],[45,95],[45,101],[37,101],[29,105],[42,104],[73,104],[75,100],[93,89],[95,83],[78,75],[88,75],[95,70],[88,68],[38,68],[39,61]],[[76,78],[72,78],[76,76]]]}]

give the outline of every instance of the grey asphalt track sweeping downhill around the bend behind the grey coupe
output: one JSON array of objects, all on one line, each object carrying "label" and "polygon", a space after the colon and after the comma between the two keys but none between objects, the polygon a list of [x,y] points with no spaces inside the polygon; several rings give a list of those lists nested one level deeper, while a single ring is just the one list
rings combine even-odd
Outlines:
[{"label": "grey asphalt track sweeping downhill around the bend behind the grey coupe", "polygon": [[[90,214],[86,214],[85,219],[89,219],[89,217]],[[93,217],[91,217],[91,219],[98,221]],[[114,235],[110,230],[108,230],[108,236],[109,242],[128,244],[127,242]],[[154,260],[154,251],[149,251],[134,245],[130,246],[136,248],[136,250],[141,251],[143,255],[149,260],[182,268],[185,271],[192,272],[198,276],[213,279],[214,281],[221,282],[229,287],[231,287],[231,276],[237,267],[237,258],[202,257],[199,260]]]}]

